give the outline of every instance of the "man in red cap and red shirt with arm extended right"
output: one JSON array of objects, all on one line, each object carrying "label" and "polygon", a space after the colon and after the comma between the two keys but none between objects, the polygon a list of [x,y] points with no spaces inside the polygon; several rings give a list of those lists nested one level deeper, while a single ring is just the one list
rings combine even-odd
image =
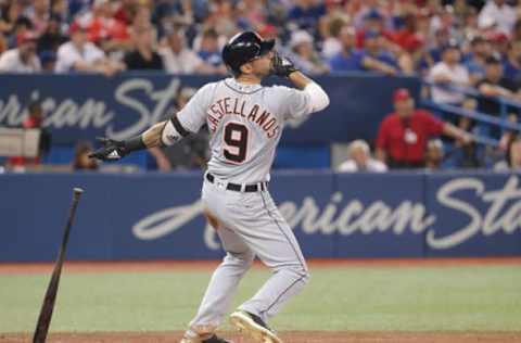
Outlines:
[{"label": "man in red cap and red shirt with arm extended right", "polygon": [[394,92],[394,111],[380,124],[377,138],[377,157],[391,168],[423,167],[427,142],[433,136],[444,134],[463,143],[471,141],[468,132],[416,109],[405,88]]}]

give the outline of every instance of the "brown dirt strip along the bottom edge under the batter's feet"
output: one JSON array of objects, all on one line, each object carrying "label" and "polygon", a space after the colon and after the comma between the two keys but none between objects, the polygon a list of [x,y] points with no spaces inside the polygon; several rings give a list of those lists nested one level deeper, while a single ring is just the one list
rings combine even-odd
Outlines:
[{"label": "brown dirt strip along the bottom edge under the batter's feet", "polygon": [[[234,343],[253,343],[237,334],[224,333]],[[49,343],[176,343],[180,332],[53,333]],[[284,343],[517,343],[521,332],[284,332]],[[29,342],[28,334],[0,334],[1,343]]]}]

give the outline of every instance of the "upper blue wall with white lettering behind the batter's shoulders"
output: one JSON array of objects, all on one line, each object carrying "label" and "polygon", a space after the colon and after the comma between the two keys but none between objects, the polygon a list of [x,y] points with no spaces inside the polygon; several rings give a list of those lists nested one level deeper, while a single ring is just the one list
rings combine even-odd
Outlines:
[{"label": "upper blue wall with white lettering behind the batter's shoulders", "polygon": [[[126,139],[171,113],[183,88],[199,88],[217,78],[171,76],[165,73],[101,75],[0,75],[0,126],[20,126],[30,101],[41,101],[43,126],[53,144],[73,145],[78,139],[109,136]],[[317,78],[331,99],[326,111],[289,123],[282,143],[331,143],[353,137],[372,141],[381,118],[392,111],[392,92],[408,88],[418,98],[416,77],[367,74]],[[280,79],[269,78],[266,85]]]}]

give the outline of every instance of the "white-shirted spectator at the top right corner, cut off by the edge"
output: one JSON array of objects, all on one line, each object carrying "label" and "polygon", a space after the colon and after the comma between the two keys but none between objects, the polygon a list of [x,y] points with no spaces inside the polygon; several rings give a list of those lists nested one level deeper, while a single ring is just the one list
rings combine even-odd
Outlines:
[{"label": "white-shirted spectator at the top right corner, cut off by the edge", "polygon": [[478,25],[482,29],[497,27],[509,35],[516,24],[516,10],[506,0],[487,0],[481,9]]}]

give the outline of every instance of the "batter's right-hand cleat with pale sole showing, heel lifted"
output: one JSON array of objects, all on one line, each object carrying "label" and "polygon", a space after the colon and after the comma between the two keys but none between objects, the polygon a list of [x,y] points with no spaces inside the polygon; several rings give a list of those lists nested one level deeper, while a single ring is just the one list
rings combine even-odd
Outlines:
[{"label": "batter's right-hand cleat with pale sole showing, heel lifted", "polygon": [[257,343],[282,343],[282,340],[259,317],[244,310],[230,315],[230,322],[240,332],[247,333]]}]

